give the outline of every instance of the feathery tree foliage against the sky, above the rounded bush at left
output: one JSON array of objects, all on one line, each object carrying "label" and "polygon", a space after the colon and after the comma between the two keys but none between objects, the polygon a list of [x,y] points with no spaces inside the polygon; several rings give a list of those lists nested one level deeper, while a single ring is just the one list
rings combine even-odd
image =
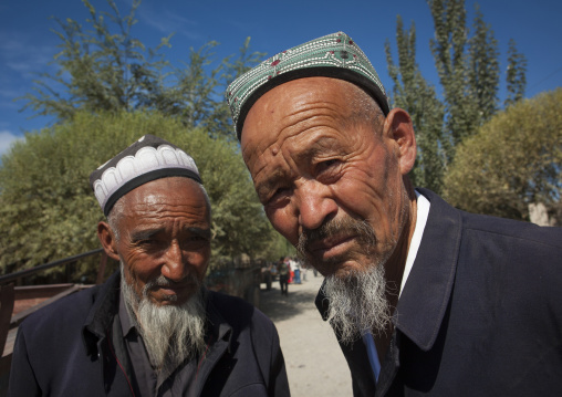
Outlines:
[{"label": "feathery tree foliage against the sky, above the rounded bush at left", "polygon": [[33,93],[23,97],[24,108],[54,116],[58,122],[71,119],[79,111],[156,109],[187,127],[205,127],[212,136],[230,133],[230,115],[221,92],[263,56],[249,51],[249,38],[238,58],[216,62],[214,49],[218,43],[211,41],[198,50],[190,48],[188,60],[171,65],[163,52],[170,46],[171,35],[154,49],[133,35],[140,0],[134,0],[124,17],[114,0],[107,0],[111,12],[97,11],[89,0],[82,1],[90,18],[84,24],[56,20],[56,72],[40,74]]}]

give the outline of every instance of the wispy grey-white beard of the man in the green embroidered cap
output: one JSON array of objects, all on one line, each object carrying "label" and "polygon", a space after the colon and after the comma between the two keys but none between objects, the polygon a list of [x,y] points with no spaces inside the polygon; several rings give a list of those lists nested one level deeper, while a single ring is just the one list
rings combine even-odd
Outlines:
[{"label": "wispy grey-white beard of the man in the green embroidered cap", "polygon": [[385,291],[382,264],[345,278],[326,276],[323,292],[330,300],[327,321],[340,342],[351,344],[367,332],[386,330],[392,315]]}]

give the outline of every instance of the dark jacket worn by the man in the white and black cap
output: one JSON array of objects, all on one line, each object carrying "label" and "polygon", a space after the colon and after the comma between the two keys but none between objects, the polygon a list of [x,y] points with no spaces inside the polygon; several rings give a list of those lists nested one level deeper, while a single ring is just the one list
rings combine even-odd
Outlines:
[{"label": "dark jacket worn by the man in the white and black cap", "polygon": [[[14,345],[9,393],[21,396],[134,396],[117,321],[119,274],[29,316]],[[208,292],[208,349],[197,396],[289,396],[275,327],[240,299]]]}]

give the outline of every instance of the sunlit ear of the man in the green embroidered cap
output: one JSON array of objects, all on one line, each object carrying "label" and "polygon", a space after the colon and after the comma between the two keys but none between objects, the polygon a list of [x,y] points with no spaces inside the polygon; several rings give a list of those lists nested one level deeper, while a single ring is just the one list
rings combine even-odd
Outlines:
[{"label": "sunlit ear of the man in the green embroidered cap", "polygon": [[388,113],[384,124],[384,135],[397,144],[400,174],[408,174],[416,163],[416,135],[409,114],[395,107]]}]

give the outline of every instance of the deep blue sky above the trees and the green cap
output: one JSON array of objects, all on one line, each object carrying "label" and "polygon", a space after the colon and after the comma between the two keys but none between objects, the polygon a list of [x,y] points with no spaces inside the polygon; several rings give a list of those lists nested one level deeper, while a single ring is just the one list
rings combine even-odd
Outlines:
[{"label": "deep blue sky above the trees and the green cap", "polygon": [[[131,0],[116,0],[127,14]],[[105,0],[92,0],[96,9],[106,9]],[[469,23],[473,1],[467,1]],[[555,0],[481,0],[485,21],[499,42],[501,62],[500,100],[504,93],[504,70],[509,39],[528,60],[527,97],[562,86],[562,2]],[[166,59],[178,64],[187,60],[190,46],[198,49],[218,41],[217,59],[236,53],[247,36],[251,49],[273,55],[304,41],[344,31],[363,49],[392,92],[384,43],[395,50],[396,15],[406,27],[414,21],[417,32],[417,62],[424,76],[437,87],[434,60],[429,50],[433,21],[424,0],[393,1],[192,1],[144,0],[137,11],[133,35],[147,46],[175,33]],[[29,118],[14,98],[32,91],[37,73],[53,72],[49,62],[56,54],[59,39],[50,17],[83,22],[87,10],[80,0],[1,0],[0,1],[0,154],[23,132],[46,126],[45,117]]]}]

